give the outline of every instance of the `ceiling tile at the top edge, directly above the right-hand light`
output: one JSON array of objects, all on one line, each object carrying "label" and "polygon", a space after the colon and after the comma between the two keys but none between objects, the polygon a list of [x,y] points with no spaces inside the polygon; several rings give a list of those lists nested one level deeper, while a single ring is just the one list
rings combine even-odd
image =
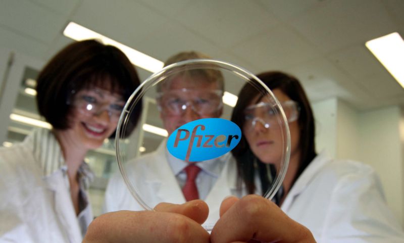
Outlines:
[{"label": "ceiling tile at the top edge, directly above the right-hand light", "polygon": [[324,53],[365,43],[396,29],[379,0],[327,1],[290,24]]}]

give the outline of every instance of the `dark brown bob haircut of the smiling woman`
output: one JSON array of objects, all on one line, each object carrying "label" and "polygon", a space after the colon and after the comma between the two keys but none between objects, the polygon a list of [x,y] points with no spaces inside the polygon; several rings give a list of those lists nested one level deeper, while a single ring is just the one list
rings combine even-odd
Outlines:
[{"label": "dark brown bob haircut of the smiling woman", "polygon": [[[78,41],[63,48],[39,73],[36,102],[47,122],[65,130],[70,128],[68,101],[73,90],[108,88],[126,101],[139,84],[136,69],[117,47],[97,40]],[[141,103],[133,112],[132,124],[137,123],[140,112]]]}]

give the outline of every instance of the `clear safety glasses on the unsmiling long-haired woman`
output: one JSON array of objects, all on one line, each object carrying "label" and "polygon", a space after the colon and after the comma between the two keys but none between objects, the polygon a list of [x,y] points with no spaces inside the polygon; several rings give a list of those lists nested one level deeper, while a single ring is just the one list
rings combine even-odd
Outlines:
[{"label": "clear safety glasses on the unsmiling long-haired woman", "polygon": [[[300,108],[294,101],[286,101],[281,103],[283,112],[285,113],[287,122],[294,122],[299,116]],[[278,107],[273,104],[260,102],[256,105],[249,106],[244,110],[245,128],[253,130],[258,122],[265,128],[279,125]]]}]

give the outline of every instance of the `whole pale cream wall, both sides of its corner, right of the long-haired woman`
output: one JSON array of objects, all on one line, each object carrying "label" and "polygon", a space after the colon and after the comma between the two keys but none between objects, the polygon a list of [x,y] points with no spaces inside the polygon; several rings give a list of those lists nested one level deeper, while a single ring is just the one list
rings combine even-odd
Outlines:
[{"label": "whole pale cream wall, both sides of its corner, right of the long-haired woman", "polygon": [[336,159],[371,165],[380,176],[387,204],[404,222],[404,112],[398,106],[358,112],[336,98],[312,104],[316,148]]}]

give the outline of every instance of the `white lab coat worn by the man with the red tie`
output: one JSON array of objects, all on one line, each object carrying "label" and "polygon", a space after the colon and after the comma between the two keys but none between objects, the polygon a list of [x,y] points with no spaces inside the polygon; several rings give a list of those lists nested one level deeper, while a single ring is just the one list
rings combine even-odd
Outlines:
[{"label": "white lab coat worn by the man with the red tie", "polygon": [[[161,202],[185,203],[181,188],[167,160],[165,144],[163,141],[155,152],[125,165],[127,177],[150,208]],[[209,216],[205,223],[207,226],[219,219],[219,207],[223,199],[236,194],[236,164],[230,154],[220,159],[224,161],[224,167],[205,200],[209,206]],[[108,183],[104,212],[118,210],[144,210],[131,195],[119,172],[115,173]]]}]

